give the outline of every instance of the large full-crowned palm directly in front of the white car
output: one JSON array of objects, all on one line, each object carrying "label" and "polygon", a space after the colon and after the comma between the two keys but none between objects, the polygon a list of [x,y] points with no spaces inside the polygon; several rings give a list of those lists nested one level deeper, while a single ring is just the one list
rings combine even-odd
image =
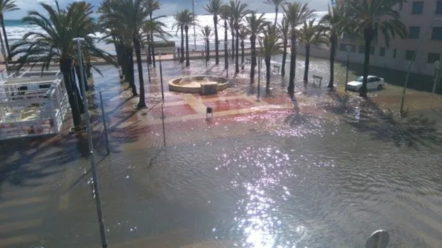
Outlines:
[{"label": "large full-crowned palm directly in front of the white car", "polygon": [[359,95],[367,97],[367,77],[370,65],[371,42],[377,37],[378,32],[384,36],[387,47],[390,40],[399,35],[407,36],[407,28],[399,20],[400,15],[395,5],[403,0],[351,0],[348,3],[350,22],[354,32],[363,35],[365,40],[364,73],[362,87]]}]

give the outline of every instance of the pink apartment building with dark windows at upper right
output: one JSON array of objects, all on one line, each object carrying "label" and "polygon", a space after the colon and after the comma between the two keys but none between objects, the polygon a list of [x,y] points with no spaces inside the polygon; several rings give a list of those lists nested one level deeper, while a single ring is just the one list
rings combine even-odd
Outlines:
[{"label": "pink apartment building with dark windows at upper right", "polygon": [[[419,40],[423,39],[411,72],[433,75],[436,68],[434,62],[440,60],[442,54],[442,20],[435,21],[432,27],[430,25],[434,19],[442,19],[442,0],[409,0],[398,5],[397,9],[409,35],[403,40],[396,36],[388,48],[381,35],[373,42],[370,65],[406,71]],[[427,29],[428,32],[425,33]],[[344,36],[339,43],[337,60],[344,61],[350,55],[351,63],[363,63],[363,40]]]}]

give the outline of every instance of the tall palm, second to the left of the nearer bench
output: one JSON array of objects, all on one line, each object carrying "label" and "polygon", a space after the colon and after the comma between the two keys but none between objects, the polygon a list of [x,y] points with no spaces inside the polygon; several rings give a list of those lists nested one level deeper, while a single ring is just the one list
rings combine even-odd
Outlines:
[{"label": "tall palm, second to the left of the nearer bench", "polygon": [[302,25],[306,20],[310,19],[314,10],[308,9],[307,3],[292,2],[283,6],[285,17],[290,24],[290,75],[287,90],[293,93],[295,90],[295,74],[296,74],[296,40],[298,38],[297,26]]}]

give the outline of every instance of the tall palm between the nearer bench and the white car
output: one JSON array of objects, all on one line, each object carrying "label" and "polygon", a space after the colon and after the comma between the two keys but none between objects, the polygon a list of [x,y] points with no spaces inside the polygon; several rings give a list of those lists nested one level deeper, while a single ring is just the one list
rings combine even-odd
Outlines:
[{"label": "tall palm between the nearer bench and the white car", "polygon": [[337,1],[332,7],[329,6],[329,13],[322,17],[320,24],[329,35],[330,41],[330,80],[327,87],[334,87],[334,58],[338,37],[347,29],[348,19],[346,17],[343,1]]}]

